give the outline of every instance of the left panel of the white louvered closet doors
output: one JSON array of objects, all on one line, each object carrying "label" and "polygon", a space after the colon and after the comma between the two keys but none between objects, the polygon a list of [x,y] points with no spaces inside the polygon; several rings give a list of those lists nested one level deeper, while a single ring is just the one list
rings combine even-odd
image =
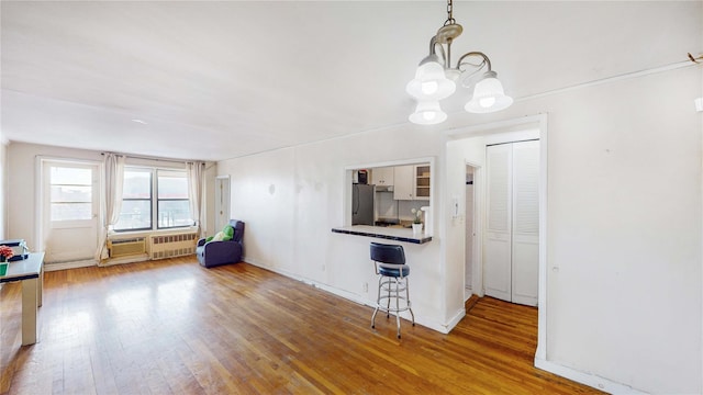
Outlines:
[{"label": "left panel of the white louvered closet doors", "polygon": [[487,227],[483,256],[486,294],[511,301],[512,146],[486,147]]}]

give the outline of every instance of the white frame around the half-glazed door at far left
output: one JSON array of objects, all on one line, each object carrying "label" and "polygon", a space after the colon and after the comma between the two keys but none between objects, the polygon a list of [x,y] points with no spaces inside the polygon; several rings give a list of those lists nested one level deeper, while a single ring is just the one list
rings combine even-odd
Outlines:
[{"label": "white frame around the half-glazed door at far left", "polygon": [[[90,160],[90,159],[67,159],[62,157],[52,157],[52,156],[36,156],[35,165],[34,165],[34,180],[35,180],[35,190],[34,194],[34,206],[37,207],[34,223],[34,239],[36,240],[34,246],[37,251],[43,251],[46,247],[44,240],[44,218],[48,213],[45,213],[45,204],[44,204],[44,193],[46,192],[45,178],[44,178],[44,166],[46,163],[56,162],[56,163],[67,163],[67,165],[83,165],[83,166],[94,166],[98,171],[98,185],[96,191],[96,199],[98,199],[98,233],[96,234],[97,245],[100,245],[99,234],[100,227],[104,222],[104,163],[100,160]],[[64,263],[54,263],[52,264],[53,270],[63,270],[63,269],[72,269],[72,268],[81,268],[86,266],[98,264],[98,261],[93,258],[92,260],[86,261],[76,261],[76,262],[64,262]]]}]

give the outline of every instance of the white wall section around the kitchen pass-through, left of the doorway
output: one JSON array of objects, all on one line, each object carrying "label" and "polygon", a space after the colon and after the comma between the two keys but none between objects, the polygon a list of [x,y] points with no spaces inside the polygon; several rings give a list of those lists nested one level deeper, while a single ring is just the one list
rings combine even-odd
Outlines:
[{"label": "white wall section around the kitchen pass-through, left of the doorway", "polygon": [[[219,173],[232,179],[232,217],[246,222],[245,260],[371,303],[369,242],[378,239],[331,232],[345,221],[345,168],[437,156],[438,136],[404,126],[219,162]],[[440,163],[435,173],[442,177]],[[428,244],[404,247],[415,318],[446,330],[442,242],[435,233]]]}]

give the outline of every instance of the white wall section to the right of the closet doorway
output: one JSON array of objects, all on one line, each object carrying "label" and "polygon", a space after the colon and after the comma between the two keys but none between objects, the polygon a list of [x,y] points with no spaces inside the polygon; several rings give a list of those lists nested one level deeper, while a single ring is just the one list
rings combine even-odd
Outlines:
[{"label": "white wall section to the right of the closet doorway", "polygon": [[549,360],[701,392],[700,78],[644,77],[547,109]]}]

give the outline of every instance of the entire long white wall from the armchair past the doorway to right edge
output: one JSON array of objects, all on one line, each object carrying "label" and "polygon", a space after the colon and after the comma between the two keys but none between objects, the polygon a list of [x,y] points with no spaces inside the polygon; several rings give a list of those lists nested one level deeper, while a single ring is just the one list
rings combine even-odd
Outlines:
[{"label": "entire long white wall from the armchair past the doorway to right edge", "polygon": [[[702,121],[691,105],[700,87],[700,71],[685,68],[487,117],[453,114],[446,126],[549,114],[546,356],[592,375],[592,385],[603,377],[645,392],[701,392]],[[406,126],[221,162],[233,216],[247,221],[247,260],[371,300],[360,290],[373,281],[370,239],[330,233],[343,224],[343,169],[438,156],[440,232],[410,247],[420,257],[411,297],[419,321],[450,326],[462,308],[464,226],[445,208],[446,180],[465,167],[445,168],[446,140]]]}]

